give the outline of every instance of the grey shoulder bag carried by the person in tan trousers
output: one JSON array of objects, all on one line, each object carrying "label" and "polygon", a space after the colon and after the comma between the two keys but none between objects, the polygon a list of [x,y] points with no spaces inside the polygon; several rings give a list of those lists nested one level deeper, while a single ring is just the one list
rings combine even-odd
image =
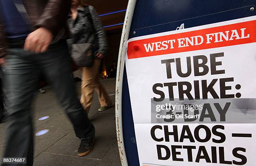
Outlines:
[{"label": "grey shoulder bag carried by the person in tan trousers", "polygon": [[[87,12],[87,17],[92,24],[92,17],[88,6],[85,6],[84,12]],[[78,67],[90,67],[93,65],[94,54],[92,50],[92,43],[81,43],[81,44],[72,44],[72,55],[74,63]]]}]

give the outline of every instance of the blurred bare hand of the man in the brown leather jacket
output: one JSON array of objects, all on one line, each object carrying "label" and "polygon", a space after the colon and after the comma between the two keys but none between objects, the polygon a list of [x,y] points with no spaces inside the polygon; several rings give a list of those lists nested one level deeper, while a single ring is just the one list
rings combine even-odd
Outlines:
[{"label": "blurred bare hand of the man in the brown leather jacket", "polygon": [[28,35],[24,44],[24,50],[43,53],[48,49],[53,36],[46,28],[38,28]]}]

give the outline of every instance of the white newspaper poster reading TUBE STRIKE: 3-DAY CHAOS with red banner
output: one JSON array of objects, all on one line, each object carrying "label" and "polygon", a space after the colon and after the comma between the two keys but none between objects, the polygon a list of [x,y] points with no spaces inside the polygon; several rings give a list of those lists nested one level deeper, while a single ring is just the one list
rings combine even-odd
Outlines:
[{"label": "white newspaper poster reading TUBE STRIKE: 3-DAY CHAOS with red banner", "polygon": [[131,38],[140,166],[256,166],[256,16]]}]

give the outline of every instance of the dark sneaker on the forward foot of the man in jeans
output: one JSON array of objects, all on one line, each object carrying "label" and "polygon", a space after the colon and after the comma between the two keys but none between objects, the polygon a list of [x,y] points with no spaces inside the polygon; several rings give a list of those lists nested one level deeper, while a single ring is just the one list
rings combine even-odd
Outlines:
[{"label": "dark sneaker on the forward foot of the man in jeans", "polygon": [[82,138],[77,151],[77,156],[85,156],[92,151],[95,138]]}]

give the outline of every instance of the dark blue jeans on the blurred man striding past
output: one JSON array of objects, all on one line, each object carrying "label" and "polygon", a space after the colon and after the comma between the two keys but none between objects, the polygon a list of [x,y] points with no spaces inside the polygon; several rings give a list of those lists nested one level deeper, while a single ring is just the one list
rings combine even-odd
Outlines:
[{"label": "dark blue jeans on the blurred man striding past", "polygon": [[31,102],[33,93],[38,88],[40,72],[44,73],[53,87],[57,99],[74,126],[76,136],[95,136],[95,128],[76,97],[67,45],[64,42],[55,43],[43,54],[31,54],[22,48],[10,49],[4,75],[10,109],[3,157],[26,157],[25,166],[33,165]]}]

